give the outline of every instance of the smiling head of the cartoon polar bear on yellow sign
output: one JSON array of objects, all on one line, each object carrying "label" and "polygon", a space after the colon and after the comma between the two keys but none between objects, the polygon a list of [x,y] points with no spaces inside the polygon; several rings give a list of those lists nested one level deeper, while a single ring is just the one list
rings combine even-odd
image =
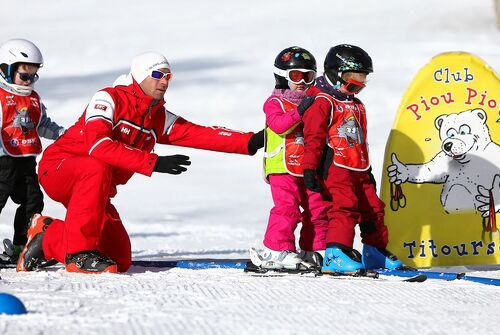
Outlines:
[{"label": "smiling head of the cartoon polar bear on yellow sign", "polygon": [[439,130],[441,150],[457,161],[464,160],[468,153],[482,151],[491,142],[486,118],[480,108],[438,116],[434,124]]}]

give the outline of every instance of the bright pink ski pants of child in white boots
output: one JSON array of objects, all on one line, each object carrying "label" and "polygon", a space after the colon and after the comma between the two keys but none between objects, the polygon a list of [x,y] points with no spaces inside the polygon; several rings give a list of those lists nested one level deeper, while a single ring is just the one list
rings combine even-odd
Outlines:
[{"label": "bright pink ski pants of child in white boots", "polygon": [[269,215],[264,245],[276,251],[296,251],[294,231],[302,222],[300,248],[324,250],[328,220],[321,194],[309,191],[302,178],[289,174],[270,175],[269,183],[274,207]]}]

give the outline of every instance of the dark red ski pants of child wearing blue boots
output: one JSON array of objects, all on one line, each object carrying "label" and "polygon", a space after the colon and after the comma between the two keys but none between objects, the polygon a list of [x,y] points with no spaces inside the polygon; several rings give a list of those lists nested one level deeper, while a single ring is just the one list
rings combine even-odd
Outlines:
[{"label": "dark red ski pants of child wearing blue boots", "polygon": [[355,226],[360,225],[361,242],[378,248],[388,243],[384,224],[385,204],[377,196],[370,175],[332,164],[325,180],[324,196],[328,214],[327,243],[352,248]]}]

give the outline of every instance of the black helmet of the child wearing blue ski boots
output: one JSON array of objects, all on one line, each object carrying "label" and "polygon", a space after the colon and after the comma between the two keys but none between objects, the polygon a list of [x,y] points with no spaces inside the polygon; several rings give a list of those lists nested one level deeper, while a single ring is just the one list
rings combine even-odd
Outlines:
[{"label": "black helmet of the child wearing blue ski boots", "polygon": [[343,72],[373,72],[370,55],[360,47],[340,44],[332,47],[325,57],[325,74],[336,83]]}]

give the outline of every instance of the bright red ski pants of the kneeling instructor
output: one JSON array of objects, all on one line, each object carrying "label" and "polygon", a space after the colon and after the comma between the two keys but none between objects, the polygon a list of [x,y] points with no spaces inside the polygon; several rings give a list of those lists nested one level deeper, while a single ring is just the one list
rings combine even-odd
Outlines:
[{"label": "bright red ski pants of the kneeling instructor", "polygon": [[85,156],[42,159],[39,166],[45,192],[67,210],[64,221],[54,220],[45,232],[45,258],[65,263],[67,254],[98,250],[117,263],[118,271],[127,271],[132,263],[131,245],[110,202],[111,166]]}]

